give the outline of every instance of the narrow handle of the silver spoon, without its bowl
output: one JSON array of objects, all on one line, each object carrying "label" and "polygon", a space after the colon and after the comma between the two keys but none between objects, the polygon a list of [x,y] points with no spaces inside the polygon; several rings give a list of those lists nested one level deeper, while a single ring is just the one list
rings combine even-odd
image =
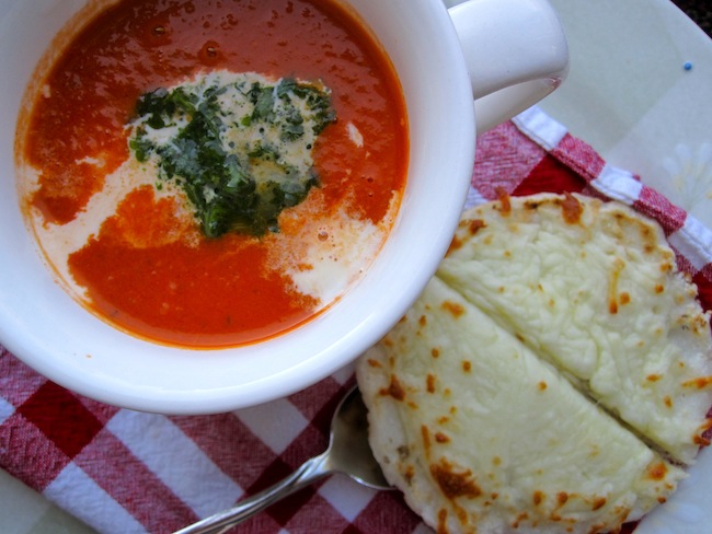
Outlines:
[{"label": "narrow handle of the silver spoon, without its bowl", "polygon": [[328,454],[308,460],[291,475],[232,508],[217,512],[174,534],[219,534],[243,522],[268,506],[330,474]]}]

